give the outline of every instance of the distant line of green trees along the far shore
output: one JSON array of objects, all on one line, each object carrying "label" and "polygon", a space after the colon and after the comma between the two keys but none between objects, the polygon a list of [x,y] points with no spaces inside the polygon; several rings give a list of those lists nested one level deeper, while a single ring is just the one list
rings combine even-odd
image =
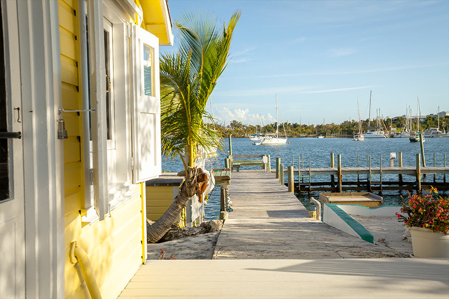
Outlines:
[{"label": "distant line of green trees along the far shore", "polygon": [[[402,131],[405,128],[406,120],[404,118],[399,118],[395,120],[396,123],[392,125],[391,118],[382,120],[381,127],[386,131],[391,131],[392,128],[396,128],[397,131]],[[376,125],[376,120],[371,120],[371,126]],[[438,119],[433,116],[427,116],[425,120],[421,120],[420,129],[425,130],[427,128],[436,128],[438,125]],[[316,136],[322,134],[324,136],[336,135],[336,134],[346,134],[348,136],[352,135],[354,132],[358,132],[358,122],[356,120],[344,121],[340,124],[330,123],[330,124],[318,124],[318,125],[307,125],[284,122],[285,131],[287,137],[306,137],[306,136]],[[439,127],[444,128],[447,132],[449,130],[449,116],[440,117]],[[228,126],[223,126],[216,124],[216,128],[220,130],[223,136],[229,136],[232,134],[234,137],[247,137],[256,133],[256,128],[254,125],[243,124],[240,121],[233,120]],[[413,130],[416,130],[416,122],[412,125]],[[368,129],[368,119],[362,121],[362,132],[366,132]],[[260,131],[260,126],[258,126],[258,132]],[[262,128],[262,133],[274,133],[276,132],[276,123],[267,124]],[[282,123],[279,123],[279,133],[284,135],[284,128]]]}]

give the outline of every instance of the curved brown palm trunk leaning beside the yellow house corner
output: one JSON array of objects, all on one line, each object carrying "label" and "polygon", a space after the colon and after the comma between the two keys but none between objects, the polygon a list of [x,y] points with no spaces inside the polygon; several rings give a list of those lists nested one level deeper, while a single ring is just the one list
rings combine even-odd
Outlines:
[{"label": "curved brown palm trunk leaning beside the yellow house corner", "polygon": [[207,175],[201,168],[189,168],[187,177],[182,183],[178,195],[173,199],[173,203],[165,211],[165,213],[154,222],[147,231],[148,243],[156,243],[159,241],[170,229],[170,226],[176,221],[182,208],[187,204],[188,200],[198,194],[201,196],[202,188],[207,182]]}]

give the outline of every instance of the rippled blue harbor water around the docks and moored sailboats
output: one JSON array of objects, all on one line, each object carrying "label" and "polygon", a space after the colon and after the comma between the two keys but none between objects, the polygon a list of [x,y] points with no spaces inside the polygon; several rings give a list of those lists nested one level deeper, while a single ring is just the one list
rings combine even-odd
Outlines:
[{"label": "rippled blue harbor water around the docks and moored sailboats", "polygon": [[[224,168],[224,159],[229,155],[228,139],[223,139],[224,152],[210,158],[206,162],[208,170]],[[420,152],[419,142],[410,142],[408,138],[372,138],[364,141],[353,141],[349,138],[289,138],[287,144],[277,145],[253,145],[248,138],[232,138],[233,155],[270,155],[271,168],[276,169],[276,158],[281,158],[284,167],[293,165],[298,168],[299,158],[301,168],[330,167],[331,153],[335,154],[335,167],[337,167],[337,155],[341,155],[342,167],[357,167],[357,154],[359,166],[367,167],[367,155],[371,157],[371,167],[379,167],[380,156],[382,167],[390,166],[390,153],[396,153],[395,166],[398,166],[398,153],[403,154],[403,166],[416,166],[416,154]],[[444,164],[443,154],[446,154],[446,166],[449,166],[449,138],[427,138],[424,142],[424,154],[426,166],[433,166],[433,154],[435,154],[435,166]],[[292,161],[293,156],[293,161]],[[293,163],[293,164],[292,164]],[[182,162],[164,161],[163,171],[178,172],[183,170]],[[250,169],[249,167],[244,169]],[[443,175],[436,175],[437,180]],[[286,177],[287,179],[287,177]],[[297,180],[297,178],[296,178]],[[344,175],[343,181],[355,181],[357,175]],[[360,175],[360,180],[366,180],[366,175]],[[382,181],[397,180],[397,175],[382,175]],[[307,181],[307,180],[306,180]],[[305,182],[306,182],[305,181]],[[312,182],[329,181],[329,176],[312,176]],[[372,181],[379,181],[379,177],[372,177]],[[404,175],[405,182],[415,181],[415,177]],[[433,182],[433,175],[428,175],[423,182]],[[441,181],[441,180],[438,180]],[[449,176],[446,175],[446,181]],[[287,180],[285,180],[287,182]],[[429,183],[431,184],[431,183]],[[231,176],[232,192],[232,176]],[[442,195],[447,196],[448,192]],[[401,197],[407,196],[407,191],[383,191],[383,204],[400,204]],[[318,192],[296,194],[299,200],[308,209],[312,209],[310,197],[318,199]],[[231,197],[232,199],[232,197]],[[205,206],[206,219],[217,219],[220,213],[220,188],[216,187]]]}]

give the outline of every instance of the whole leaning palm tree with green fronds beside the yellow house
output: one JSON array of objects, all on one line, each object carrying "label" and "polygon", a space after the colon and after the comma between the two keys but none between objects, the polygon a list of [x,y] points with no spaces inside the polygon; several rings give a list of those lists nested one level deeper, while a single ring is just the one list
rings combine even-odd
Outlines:
[{"label": "whole leaning palm tree with green fronds beside the yellow house", "polygon": [[[237,11],[227,26],[223,23],[223,28],[219,28],[218,19],[211,14],[185,13],[175,22],[179,30],[177,50],[161,55],[162,154],[170,160],[177,157],[182,160],[186,181],[172,205],[150,227],[149,242],[162,238],[191,196],[204,191],[202,171],[193,169],[200,148],[210,150],[222,146],[220,133],[215,130],[215,121],[206,111],[206,105],[227,65],[239,17]],[[212,124],[203,122],[204,117],[210,118]],[[197,180],[190,177],[193,174],[200,174]]]}]

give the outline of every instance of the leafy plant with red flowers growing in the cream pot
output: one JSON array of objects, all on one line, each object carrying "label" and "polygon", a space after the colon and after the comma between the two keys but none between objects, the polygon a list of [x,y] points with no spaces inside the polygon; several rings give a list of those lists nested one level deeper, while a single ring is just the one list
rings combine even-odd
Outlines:
[{"label": "leafy plant with red flowers growing in the cream pot", "polygon": [[398,221],[404,222],[408,228],[419,227],[441,232],[449,231],[449,197],[437,195],[438,190],[431,187],[427,195],[408,195],[402,198],[401,213],[396,213]]}]

